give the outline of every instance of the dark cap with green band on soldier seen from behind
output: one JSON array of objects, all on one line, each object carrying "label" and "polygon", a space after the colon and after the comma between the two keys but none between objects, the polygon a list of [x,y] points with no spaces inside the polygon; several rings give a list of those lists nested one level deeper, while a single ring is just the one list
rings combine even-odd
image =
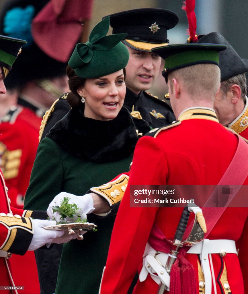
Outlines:
[{"label": "dark cap with green band on soldier seen from behind", "polygon": [[183,67],[210,63],[219,66],[219,51],[227,49],[221,44],[177,44],[153,48],[152,52],[161,56],[164,61],[162,75],[166,78],[168,73]]}]

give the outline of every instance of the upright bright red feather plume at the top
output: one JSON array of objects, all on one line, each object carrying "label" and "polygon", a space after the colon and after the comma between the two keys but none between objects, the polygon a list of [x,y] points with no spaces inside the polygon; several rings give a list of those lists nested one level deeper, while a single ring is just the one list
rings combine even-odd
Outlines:
[{"label": "upright bright red feather plume at the top", "polygon": [[198,37],[196,36],[196,17],[195,17],[195,0],[185,0],[183,1],[182,9],[186,11],[188,23],[189,23],[189,35],[190,43],[196,43]]}]

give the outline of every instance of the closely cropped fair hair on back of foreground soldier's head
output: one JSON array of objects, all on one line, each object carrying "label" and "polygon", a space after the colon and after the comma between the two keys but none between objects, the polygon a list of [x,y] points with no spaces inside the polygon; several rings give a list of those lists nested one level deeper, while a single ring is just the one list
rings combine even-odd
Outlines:
[{"label": "closely cropped fair hair on back of foreground soldier's head", "polygon": [[199,92],[211,93],[215,97],[220,86],[220,68],[215,64],[195,64],[169,73],[172,78],[179,79],[192,97]]}]

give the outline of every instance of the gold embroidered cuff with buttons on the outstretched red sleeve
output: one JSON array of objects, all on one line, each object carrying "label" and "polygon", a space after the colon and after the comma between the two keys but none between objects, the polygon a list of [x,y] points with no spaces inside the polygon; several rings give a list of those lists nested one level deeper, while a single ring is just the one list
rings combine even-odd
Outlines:
[{"label": "gold embroidered cuff with buttons on the outstretched red sleeve", "polygon": [[109,206],[112,206],[122,200],[126,191],[128,179],[129,176],[122,174],[116,180],[99,187],[93,187],[90,191],[105,198],[109,203]]}]

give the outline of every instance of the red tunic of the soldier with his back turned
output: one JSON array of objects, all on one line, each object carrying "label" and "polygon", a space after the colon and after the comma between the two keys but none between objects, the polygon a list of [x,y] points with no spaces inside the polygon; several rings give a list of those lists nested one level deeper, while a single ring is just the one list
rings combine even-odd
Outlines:
[{"label": "red tunic of the soldier with his back turned", "polygon": [[[234,156],[237,137],[218,123],[214,111],[191,109],[179,119],[178,125],[161,128],[157,133],[155,130],[156,136],[144,136],[136,145],[129,182],[114,224],[101,294],[127,293],[137,269],[142,268],[142,256],[153,223],[166,238],[173,239],[183,209],[130,208],[130,185],[216,185]],[[247,179],[244,184],[248,184]],[[242,240],[239,247],[242,270],[236,254],[227,253],[223,259],[219,254],[212,254],[217,294],[244,293],[242,274],[244,280],[248,279],[247,254],[244,254],[247,215],[248,208],[227,208],[207,237]],[[195,293],[199,293],[198,256],[186,254],[185,258],[195,269]],[[224,289],[222,281],[216,281],[223,275],[223,260],[229,291]],[[133,293],[155,294],[157,290],[158,284],[148,275],[145,281],[138,280]]]}]

